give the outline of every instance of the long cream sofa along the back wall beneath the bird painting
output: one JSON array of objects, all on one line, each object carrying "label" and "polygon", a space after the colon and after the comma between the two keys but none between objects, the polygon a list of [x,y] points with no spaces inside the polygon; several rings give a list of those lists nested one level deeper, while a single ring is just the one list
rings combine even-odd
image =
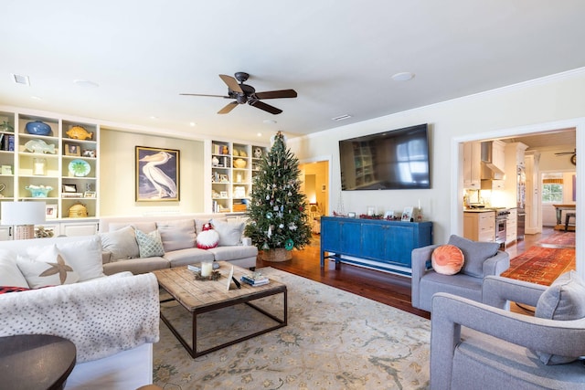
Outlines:
[{"label": "long cream sofa along the back wall beneath the bird painting", "polygon": [[[197,235],[203,224],[212,221],[218,231],[217,248],[197,248]],[[158,231],[164,253],[142,256],[135,230],[151,234]],[[200,261],[228,261],[245,268],[256,267],[258,248],[242,243],[244,223],[225,214],[173,214],[167,216],[102,216],[99,235],[103,250],[111,252],[104,261],[104,273],[128,270],[134,274],[155,269],[186,266]]]}]

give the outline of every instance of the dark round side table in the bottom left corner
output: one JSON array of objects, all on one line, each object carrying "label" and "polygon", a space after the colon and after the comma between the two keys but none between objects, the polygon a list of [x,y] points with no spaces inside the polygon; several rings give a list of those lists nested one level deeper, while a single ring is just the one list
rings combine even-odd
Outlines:
[{"label": "dark round side table in the bottom left corner", "polygon": [[62,389],[76,354],[75,344],[58,336],[0,337],[0,389]]}]

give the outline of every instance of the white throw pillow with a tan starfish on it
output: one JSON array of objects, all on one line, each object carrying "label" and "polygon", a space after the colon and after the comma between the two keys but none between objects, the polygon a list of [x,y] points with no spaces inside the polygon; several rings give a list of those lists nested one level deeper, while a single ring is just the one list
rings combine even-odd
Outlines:
[{"label": "white throw pillow with a tan starfish on it", "polygon": [[65,261],[56,245],[52,245],[37,258],[17,256],[16,264],[31,289],[71,284],[80,279],[80,275]]}]

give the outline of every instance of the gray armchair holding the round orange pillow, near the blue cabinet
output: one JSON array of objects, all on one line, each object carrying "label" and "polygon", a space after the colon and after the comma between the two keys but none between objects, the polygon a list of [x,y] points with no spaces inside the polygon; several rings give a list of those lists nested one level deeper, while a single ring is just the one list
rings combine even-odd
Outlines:
[{"label": "gray armchair holding the round orange pillow, near the blue cabinet", "polygon": [[442,275],[430,268],[432,251],[440,245],[412,250],[413,307],[431,311],[432,296],[437,292],[448,292],[481,302],[484,277],[499,276],[510,268],[510,256],[498,250],[499,245],[495,243],[475,242],[453,235],[449,238],[449,244],[460,248],[465,258],[462,271],[455,275]]}]

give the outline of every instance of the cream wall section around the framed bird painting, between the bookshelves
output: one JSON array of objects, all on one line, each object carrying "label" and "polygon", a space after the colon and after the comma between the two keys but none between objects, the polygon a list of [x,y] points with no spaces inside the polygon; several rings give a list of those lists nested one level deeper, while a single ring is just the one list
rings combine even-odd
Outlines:
[{"label": "cream wall section around the framed bird painting, between the bookshelves", "polygon": [[[204,212],[204,142],[104,128],[101,128],[100,136],[101,216]],[[180,151],[180,202],[134,201],[135,146]]]}]

